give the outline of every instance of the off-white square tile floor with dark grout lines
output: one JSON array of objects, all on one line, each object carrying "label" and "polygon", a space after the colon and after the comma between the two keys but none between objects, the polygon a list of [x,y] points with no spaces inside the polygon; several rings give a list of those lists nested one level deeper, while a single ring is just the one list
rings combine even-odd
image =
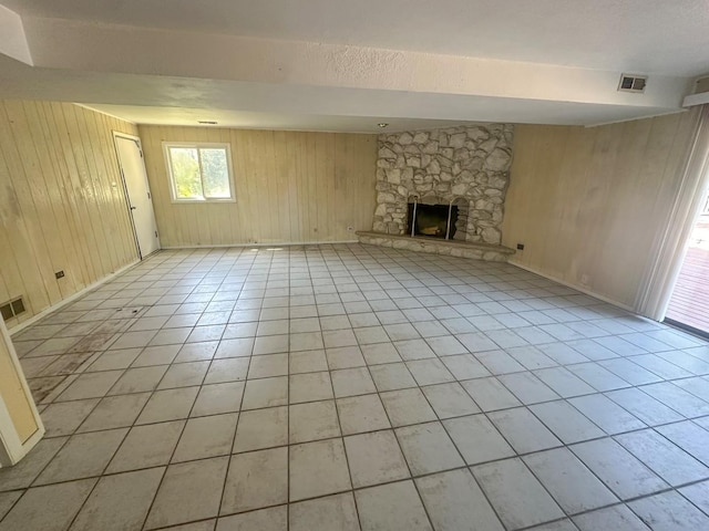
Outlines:
[{"label": "off-white square tile floor with dark grout lines", "polygon": [[14,341],[0,531],[709,529],[709,344],[508,264],[164,251]]}]

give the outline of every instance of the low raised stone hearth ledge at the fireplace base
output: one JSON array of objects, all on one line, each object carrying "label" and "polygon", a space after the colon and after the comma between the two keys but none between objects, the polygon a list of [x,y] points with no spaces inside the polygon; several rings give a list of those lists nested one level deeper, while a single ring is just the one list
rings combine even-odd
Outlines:
[{"label": "low raised stone hearth ledge at the fireplace base", "polygon": [[391,247],[392,249],[405,249],[408,251],[445,254],[449,257],[472,258],[490,262],[506,262],[514,254],[512,249],[490,243],[474,243],[456,240],[442,240],[439,238],[425,238],[398,235],[382,235],[381,232],[357,232],[360,243],[371,246]]}]

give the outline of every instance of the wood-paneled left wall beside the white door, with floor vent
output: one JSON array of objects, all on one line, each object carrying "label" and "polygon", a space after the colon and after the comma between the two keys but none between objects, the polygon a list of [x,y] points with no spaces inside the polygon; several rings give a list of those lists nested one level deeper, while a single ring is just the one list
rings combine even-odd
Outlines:
[{"label": "wood-paneled left wall beside the white door, with floor vent", "polygon": [[137,258],[112,131],[137,134],[72,104],[0,101],[0,302],[27,306],[8,327]]}]

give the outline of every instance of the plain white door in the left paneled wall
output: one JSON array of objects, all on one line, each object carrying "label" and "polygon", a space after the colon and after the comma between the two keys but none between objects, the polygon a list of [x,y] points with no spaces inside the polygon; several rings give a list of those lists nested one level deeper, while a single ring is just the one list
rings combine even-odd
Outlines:
[{"label": "plain white door in the left paneled wall", "polygon": [[129,197],[129,208],[141,259],[160,249],[151,189],[138,138],[115,134],[119,163]]}]

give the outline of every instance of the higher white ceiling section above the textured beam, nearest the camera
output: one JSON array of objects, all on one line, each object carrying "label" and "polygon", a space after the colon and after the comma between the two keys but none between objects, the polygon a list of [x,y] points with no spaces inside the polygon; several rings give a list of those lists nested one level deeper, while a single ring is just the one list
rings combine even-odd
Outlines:
[{"label": "higher white ceiling section above the textured beam, nearest the camera", "polygon": [[[20,15],[597,70],[709,71],[706,0],[3,0]],[[58,43],[59,44],[59,43]]]}]

